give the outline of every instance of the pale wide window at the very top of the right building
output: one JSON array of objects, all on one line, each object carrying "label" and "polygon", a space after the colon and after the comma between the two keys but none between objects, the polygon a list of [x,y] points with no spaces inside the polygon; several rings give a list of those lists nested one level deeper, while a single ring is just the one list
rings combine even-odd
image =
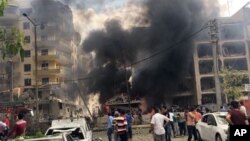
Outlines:
[{"label": "pale wide window at the very top of the right building", "polygon": [[221,27],[221,39],[222,40],[234,40],[243,39],[244,31],[241,24],[228,24]]}]

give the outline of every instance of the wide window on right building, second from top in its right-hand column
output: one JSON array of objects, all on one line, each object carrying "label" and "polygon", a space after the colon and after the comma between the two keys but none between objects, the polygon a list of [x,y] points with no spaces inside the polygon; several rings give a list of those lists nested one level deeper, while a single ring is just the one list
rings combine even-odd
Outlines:
[{"label": "wide window on right building, second from top in its right-hand column", "polygon": [[222,45],[223,56],[241,56],[246,54],[244,42],[227,42]]}]

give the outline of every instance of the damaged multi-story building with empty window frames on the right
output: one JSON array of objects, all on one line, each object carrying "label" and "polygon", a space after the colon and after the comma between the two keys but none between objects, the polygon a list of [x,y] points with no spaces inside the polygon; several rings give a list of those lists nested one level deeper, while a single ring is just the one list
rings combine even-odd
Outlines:
[{"label": "damaged multi-story building with empty window frames on the right", "polygon": [[[212,25],[218,28],[204,30],[195,42],[195,103],[214,103],[217,107],[225,103],[220,86],[222,68],[230,67],[250,75],[249,17],[250,8],[244,6],[231,17],[218,18],[217,23]],[[214,35],[218,37],[218,42],[211,40]]]}]

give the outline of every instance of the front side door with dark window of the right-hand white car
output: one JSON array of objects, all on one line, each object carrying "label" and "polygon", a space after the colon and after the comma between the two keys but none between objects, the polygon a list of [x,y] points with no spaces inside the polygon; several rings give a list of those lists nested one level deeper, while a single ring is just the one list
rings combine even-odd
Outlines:
[{"label": "front side door with dark window of the right-hand white car", "polygon": [[217,128],[217,123],[215,120],[214,115],[209,115],[207,118],[207,125],[208,125],[208,132],[207,132],[207,138],[206,140],[208,141],[214,141],[215,140],[215,134],[216,134],[216,128]]}]

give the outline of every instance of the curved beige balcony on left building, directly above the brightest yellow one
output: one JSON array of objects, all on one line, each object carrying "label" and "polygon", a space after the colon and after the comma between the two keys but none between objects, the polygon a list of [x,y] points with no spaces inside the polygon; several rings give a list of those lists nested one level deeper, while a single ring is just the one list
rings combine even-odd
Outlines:
[{"label": "curved beige balcony on left building, directly above the brightest yellow one", "polygon": [[56,61],[63,66],[71,66],[73,62],[70,58],[67,58],[63,55],[50,54],[50,55],[39,55],[37,58],[38,61]]}]

